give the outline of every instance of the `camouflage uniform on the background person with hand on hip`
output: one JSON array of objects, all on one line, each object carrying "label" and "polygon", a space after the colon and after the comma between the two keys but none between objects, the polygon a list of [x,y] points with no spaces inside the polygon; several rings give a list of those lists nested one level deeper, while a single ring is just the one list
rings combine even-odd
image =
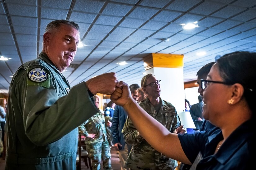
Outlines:
[{"label": "camouflage uniform on the background person with hand on hip", "polygon": [[[103,168],[112,170],[104,114],[99,111],[96,115],[81,124],[79,126],[79,133],[86,136],[86,150],[89,158],[92,159],[92,169],[101,169],[100,163],[102,158]],[[95,139],[87,137],[89,133],[94,133],[96,135]]]}]

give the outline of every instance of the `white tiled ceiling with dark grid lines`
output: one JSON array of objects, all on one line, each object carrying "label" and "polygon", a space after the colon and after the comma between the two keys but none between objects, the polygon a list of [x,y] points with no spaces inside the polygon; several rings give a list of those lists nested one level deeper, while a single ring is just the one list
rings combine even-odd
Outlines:
[{"label": "white tiled ceiling with dark grid lines", "polygon": [[[256,51],[255,0],[0,0],[0,55],[11,58],[0,61],[0,93],[41,52],[46,25],[59,19],[77,22],[87,45],[63,72],[71,86],[105,72],[140,85],[149,53],[184,54],[184,81],[191,81],[217,55]],[[180,25],[195,21],[192,30]],[[116,64],[122,61],[128,64]]]}]

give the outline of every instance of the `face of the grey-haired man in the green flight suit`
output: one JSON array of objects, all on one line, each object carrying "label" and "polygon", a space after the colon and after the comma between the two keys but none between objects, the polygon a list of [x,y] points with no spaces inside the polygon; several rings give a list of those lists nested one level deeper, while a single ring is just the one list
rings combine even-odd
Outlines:
[{"label": "face of the grey-haired man in the green flight suit", "polygon": [[47,55],[60,72],[74,60],[80,40],[79,31],[69,25],[61,25],[59,31],[48,33]]}]

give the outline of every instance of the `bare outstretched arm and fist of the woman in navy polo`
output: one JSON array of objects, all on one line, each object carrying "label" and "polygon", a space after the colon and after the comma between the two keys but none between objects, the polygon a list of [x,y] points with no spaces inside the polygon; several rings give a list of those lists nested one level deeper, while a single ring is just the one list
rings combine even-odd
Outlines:
[{"label": "bare outstretched arm and fist of the woman in navy polo", "polygon": [[119,82],[110,98],[117,105],[124,107],[135,128],[157,151],[169,158],[191,164],[182,150],[177,134],[170,133],[162,124],[147,114],[132,99],[131,92],[126,83]]}]

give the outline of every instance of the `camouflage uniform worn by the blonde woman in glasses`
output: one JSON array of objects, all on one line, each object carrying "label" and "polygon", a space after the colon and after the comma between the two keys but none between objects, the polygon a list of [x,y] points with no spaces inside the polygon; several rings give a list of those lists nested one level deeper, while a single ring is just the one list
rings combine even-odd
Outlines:
[{"label": "camouflage uniform worn by the blonde woman in glasses", "polygon": [[[160,102],[162,102],[162,106],[159,110],[159,113],[155,111],[154,106],[150,103],[148,98],[142,100],[139,105],[150,116],[163,124],[166,129],[168,129],[170,132],[173,132],[180,126],[180,120],[178,118],[177,111],[171,103],[166,102],[161,98]],[[139,134],[129,117],[127,117],[122,133],[124,133],[125,141],[132,145],[132,150],[125,162],[127,167],[135,170],[169,170],[175,169],[178,166],[176,160],[167,158],[165,155],[159,153],[153,147],[151,147]],[[161,144],[159,143],[159,145]]]}]

